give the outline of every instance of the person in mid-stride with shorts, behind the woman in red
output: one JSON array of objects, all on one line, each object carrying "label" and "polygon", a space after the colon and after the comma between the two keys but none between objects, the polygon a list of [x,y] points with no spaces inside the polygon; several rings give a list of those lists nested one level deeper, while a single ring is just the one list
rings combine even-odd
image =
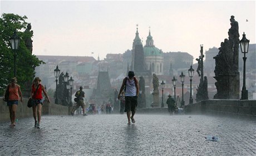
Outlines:
[{"label": "person in mid-stride with shorts, behind the woman in red", "polygon": [[87,116],[85,113],[85,103],[83,103],[83,97],[85,97],[85,92],[83,91],[82,86],[80,86],[79,90],[75,93],[75,97],[77,98],[76,105],[73,107],[71,111],[71,115],[73,116],[77,108],[81,106],[83,111],[83,116]]}]

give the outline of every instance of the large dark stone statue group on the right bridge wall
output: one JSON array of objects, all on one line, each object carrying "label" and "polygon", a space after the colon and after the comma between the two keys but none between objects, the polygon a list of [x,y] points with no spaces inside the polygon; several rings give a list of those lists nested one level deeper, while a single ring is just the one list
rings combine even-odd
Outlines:
[{"label": "large dark stone statue group on the right bridge wall", "polygon": [[238,22],[234,16],[230,18],[231,28],[228,31],[229,38],[221,42],[219,53],[215,59],[215,86],[217,93],[214,98],[239,99],[239,72],[238,72],[238,48],[239,32]]}]

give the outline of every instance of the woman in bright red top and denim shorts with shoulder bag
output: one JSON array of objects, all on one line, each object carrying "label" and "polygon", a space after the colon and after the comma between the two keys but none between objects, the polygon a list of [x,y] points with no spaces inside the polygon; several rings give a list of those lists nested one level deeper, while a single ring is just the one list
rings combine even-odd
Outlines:
[{"label": "woman in bright red top and denim shorts with shoulder bag", "polygon": [[35,119],[35,128],[40,128],[41,111],[44,101],[42,93],[47,98],[47,102],[50,103],[50,98],[47,95],[45,87],[41,84],[41,79],[39,77],[35,77],[31,86],[31,97],[29,97],[32,98],[32,110],[33,117]]}]

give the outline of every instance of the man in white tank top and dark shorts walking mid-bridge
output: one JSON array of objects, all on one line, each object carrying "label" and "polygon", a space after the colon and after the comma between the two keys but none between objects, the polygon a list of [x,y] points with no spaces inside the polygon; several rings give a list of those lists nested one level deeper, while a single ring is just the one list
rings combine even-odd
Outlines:
[{"label": "man in white tank top and dark shorts walking mid-bridge", "polygon": [[134,77],[134,71],[129,71],[128,76],[122,81],[122,86],[119,91],[118,99],[123,90],[125,90],[125,112],[127,115],[128,123],[135,123],[134,115],[137,108],[137,98],[139,96],[139,82]]}]

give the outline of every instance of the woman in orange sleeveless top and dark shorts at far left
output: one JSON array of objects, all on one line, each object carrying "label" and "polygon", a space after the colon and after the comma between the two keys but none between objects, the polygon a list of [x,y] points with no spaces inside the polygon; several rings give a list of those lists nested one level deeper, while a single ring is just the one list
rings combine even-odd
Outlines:
[{"label": "woman in orange sleeveless top and dark shorts at far left", "polygon": [[18,107],[18,101],[20,99],[21,102],[23,102],[21,87],[17,85],[16,77],[13,77],[11,79],[11,84],[7,85],[5,94],[8,94],[8,99],[5,99],[5,101],[7,101],[7,106],[9,107],[9,113],[10,113],[10,119],[11,119],[10,127],[15,127],[16,126],[16,123],[15,123],[16,110]]}]

